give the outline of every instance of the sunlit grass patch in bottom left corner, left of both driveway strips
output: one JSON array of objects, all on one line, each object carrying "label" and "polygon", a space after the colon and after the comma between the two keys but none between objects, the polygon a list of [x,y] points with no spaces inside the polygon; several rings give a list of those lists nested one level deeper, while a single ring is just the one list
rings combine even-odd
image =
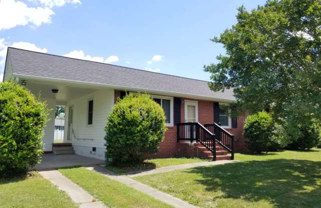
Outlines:
[{"label": "sunlit grass patch in bottom left corner, left of both driveway strips", "polygon": [[0,179],[0,207],[78,207],[64,192],[31,172],[27,177]]}]

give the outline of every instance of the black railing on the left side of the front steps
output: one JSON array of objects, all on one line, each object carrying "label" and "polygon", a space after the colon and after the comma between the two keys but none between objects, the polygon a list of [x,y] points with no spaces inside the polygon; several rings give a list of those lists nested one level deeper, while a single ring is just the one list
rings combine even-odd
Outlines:
[{"label": "black railing on the left side of the front steps", "polygon": [[213,153],[213,160],[216,160],[215,135],[198,122],[178,123],[177,141],[190,140],[200,142]]}]

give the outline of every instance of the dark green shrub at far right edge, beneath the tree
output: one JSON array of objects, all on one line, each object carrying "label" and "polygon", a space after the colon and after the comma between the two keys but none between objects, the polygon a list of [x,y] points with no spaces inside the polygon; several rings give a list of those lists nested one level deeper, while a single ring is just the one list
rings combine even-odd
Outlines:
[{"label": "dark green shrub at far right edge, beneath the tree", "polygon": [[299,133],[288,149],[311,149],[320,144],[321,141],[321,127],[320,124],[311,120],[309,125],[298,125]]}]

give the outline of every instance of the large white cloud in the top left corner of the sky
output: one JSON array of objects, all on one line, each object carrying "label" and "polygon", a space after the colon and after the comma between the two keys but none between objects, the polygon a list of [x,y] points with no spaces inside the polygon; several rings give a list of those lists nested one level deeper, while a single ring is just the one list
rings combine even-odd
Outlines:
[{"label": "large white cloud in the top left corner of the sky", "polygon": [[41,26],[51,23],[51,16],[55,13],[49,8],[30,8],[25,3],[14,0],[0,1],[0,31],[16,26]]}]

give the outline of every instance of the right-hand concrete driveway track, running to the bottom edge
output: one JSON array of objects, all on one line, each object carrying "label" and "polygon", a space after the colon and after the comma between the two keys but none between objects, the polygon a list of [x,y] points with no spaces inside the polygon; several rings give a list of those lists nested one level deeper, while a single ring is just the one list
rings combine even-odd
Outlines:
[{"label": "right-hand concrete driveway track, running to the bottom edge", "polygon": [[115,173],[107,170],[105,167],[101,166],[93,166],[93,167],[87,167],[89,170],[94,170],[99,173],[104,174],[106,177],[117,180],[131,188],[134,188],[140,192],[146,193],[147,195],[150,195],[160,201],[163,201],[167,204],[170,204],[174,207],[184,207],[184,208],[197,208],[198,206],[192,205],[186,201],[183,201],[182,199],[179,199],[177,197],[174,197],[168,193],[164,193],[162,191],[159,191],[155,188],[152,188],[148,185],[145,185],[143,183],[140,183],[130,177],[124,176],[124,175],[115,175]]}]

